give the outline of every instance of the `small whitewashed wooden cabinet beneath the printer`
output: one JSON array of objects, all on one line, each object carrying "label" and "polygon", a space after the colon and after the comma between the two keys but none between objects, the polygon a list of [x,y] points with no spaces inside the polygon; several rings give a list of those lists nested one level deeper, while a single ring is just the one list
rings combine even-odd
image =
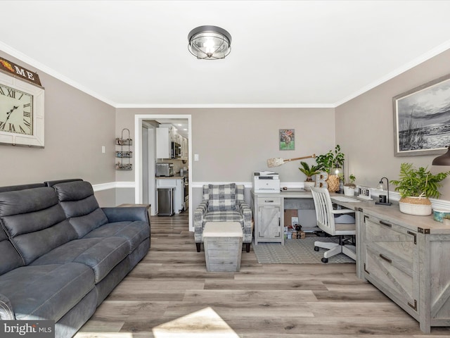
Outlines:
[{"label": "small whitewashed wooden cabinet beneath the printer", "polygon": [[255,244],[258,242],[284,244],[284,232],[281,230],[281,198],[268,195],[253,196]]}]

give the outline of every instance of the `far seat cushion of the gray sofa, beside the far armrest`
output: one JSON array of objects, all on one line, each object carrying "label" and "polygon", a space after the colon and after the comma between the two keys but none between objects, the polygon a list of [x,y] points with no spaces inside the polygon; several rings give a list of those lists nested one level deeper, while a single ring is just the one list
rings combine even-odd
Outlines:
[{"label": "far seat cushion of the gray sofa, beside the far armrest", "polygon": [[106,223],[83,238],[122,237],[129,242],[129,253],[150,237],[150,227],[143,221]]}]

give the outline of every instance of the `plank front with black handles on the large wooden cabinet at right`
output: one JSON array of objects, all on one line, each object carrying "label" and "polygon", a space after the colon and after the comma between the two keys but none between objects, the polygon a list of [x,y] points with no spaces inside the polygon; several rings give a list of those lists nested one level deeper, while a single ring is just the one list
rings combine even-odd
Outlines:
[{"label": "plank front with black handles on the large wooden cabinet at right", "polygon": [[364,277],[418,313],[417,234],[373,216],[365,215],[364,223]]}]

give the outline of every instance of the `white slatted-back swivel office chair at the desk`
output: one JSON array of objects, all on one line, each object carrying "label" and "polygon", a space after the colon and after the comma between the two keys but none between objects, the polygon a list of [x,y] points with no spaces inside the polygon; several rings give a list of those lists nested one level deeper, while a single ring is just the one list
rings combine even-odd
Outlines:
[{"label": "white slatted-back swivel office chair at the desk", "polygon": [[[330,236],[339,237],[339,243],[314,242],[314,250],[328,249],[323,253],[323,263],[328,263],[328,258],[341,252],[356,261],[356,247],[353,245],[356,235],[354,211],[345,208],[333,209],[330,193],[326,188],[311,187],[311,192],[316,208],[317,225]],[[353,213],[353,215],[349,215],[349,213]],[[346,237],[352,239],[351,244],[347,244],[349,240]]]}]

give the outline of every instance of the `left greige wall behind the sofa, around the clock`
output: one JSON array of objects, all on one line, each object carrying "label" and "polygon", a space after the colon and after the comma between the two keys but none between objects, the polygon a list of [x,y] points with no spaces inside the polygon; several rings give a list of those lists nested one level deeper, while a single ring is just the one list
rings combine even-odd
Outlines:
[{"label": "left greige wall behind the sofa, around the clock", "polygon": [[[7,60],[34,70],[0,51]],[[0,185],[79,177],[115,181],[115,108],[40,70],[45,87],[45,148],[0,145]],[[105,146],[105,154],[101,153]],[[115,198],[115,191],[110,190]]]}]

